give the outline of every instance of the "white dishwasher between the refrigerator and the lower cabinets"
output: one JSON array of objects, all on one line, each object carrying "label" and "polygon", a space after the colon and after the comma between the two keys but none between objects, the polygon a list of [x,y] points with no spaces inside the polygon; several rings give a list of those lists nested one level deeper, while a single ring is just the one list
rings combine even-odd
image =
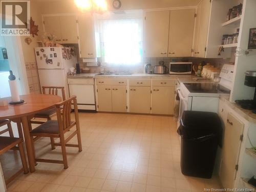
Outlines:
[{"label": "white dishwasher between the refrigerator and the lower cabinets", "polygon": [[76,95],[78,110],[95,111],[94,78],[68,77],[69,94]]}]

